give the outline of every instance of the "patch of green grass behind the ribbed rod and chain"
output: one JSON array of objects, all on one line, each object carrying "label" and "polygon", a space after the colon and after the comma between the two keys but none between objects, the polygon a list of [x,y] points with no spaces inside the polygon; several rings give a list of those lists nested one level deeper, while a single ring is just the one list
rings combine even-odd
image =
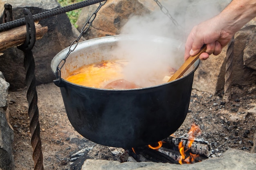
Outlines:
[{"label": "patch of green grass behind the ribbed rod and chain", "polygon": [[[77,2],[82,2],[84,0],[58,0],[58,3],[61,5],[61,7],[65,7],[70,4],[74,4]],[[81,9],[76,9],[74,11],[67,12],[67,16],[70,19],[70,22],[77,28],[77,25],[75,24],[77,21],[77,18],[79,16],[79,13],[81,12]]]}]

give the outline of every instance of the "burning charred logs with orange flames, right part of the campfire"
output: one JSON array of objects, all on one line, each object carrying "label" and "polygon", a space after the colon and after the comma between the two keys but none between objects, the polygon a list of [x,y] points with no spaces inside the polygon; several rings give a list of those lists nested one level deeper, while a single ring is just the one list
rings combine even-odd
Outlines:
[{"label": "burning charred logs with orange flames, right part of the campfire", "polygon": [[187,135],[188,139],[170,136],[155,144],[132,148],[132,152],[128,152],[137,161],[144,161],[140,159],[145,157],[155,162],[186,164],[207,159],[211,154],[211,146],[205,142],[195,141],[200,135],[200,127],[192,124]]}]

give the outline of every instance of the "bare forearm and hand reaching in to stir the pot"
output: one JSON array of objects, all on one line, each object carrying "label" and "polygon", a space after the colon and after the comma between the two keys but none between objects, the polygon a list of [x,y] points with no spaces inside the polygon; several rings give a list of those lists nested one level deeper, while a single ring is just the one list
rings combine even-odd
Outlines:
[{"label": "bare forearm and hand reaching in to stir the pot", "polygon": [[204,44],[207,50],[200,55],[201,60],[220,54],[232,36],[255,16],[256,0],[233,0],[219,15],[194,26],[186,41],[184,59],[199,53]]}]

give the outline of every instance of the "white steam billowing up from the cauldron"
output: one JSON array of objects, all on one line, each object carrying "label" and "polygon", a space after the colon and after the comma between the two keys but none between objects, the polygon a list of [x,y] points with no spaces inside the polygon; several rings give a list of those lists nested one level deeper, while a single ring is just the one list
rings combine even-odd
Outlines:
[{"label": "white steam billowing up from the cauldron", "polygon": [[[184,62],[184,43],[193,26],[220,13],[230,1],[159,0],[178,26],[159,7],[147,15],[131,16],[120,34],[141,36],[144,40],[130,44],[119,43],[118,55],[122,53],[130,61],[124,69],[125,78],[139,86],[145,86],[150,80],[146,86],[152,86],[168,74],[170,67],[179,68]],[[179,42],[156,45],[150,41],[150,36],[171,38]]]}]

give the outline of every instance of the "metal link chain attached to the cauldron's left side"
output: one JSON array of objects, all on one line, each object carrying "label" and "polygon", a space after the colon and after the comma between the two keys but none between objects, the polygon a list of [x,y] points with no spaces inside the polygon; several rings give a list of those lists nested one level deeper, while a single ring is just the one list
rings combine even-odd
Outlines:
[{"label": "metal link chain attached to the cauldron's left side", "polygon": [[[96,9],[96,11],[94,11],[94,13],[90,16],[90,18],[88,19],[88,21],[84,24],[82,30],[81,30],[81,33],[80,35],[78,36],[78,38],[76,40],[74,40],[71,44],[70,44],[70,47],[69,47],[69,50],[67,52],[67,55],[60,61],[60,63],[58,64],[57,66],[57,69],[56,69],[56,78],[59,79],[59,81],[61,81],[61,68],[64,66],[65,62],[66,62],[66,59],[67,57],[70,55],[70,53],[72,51],[74,51],[76,49],[76,46],[79,44],[79,40],[80,38],[83,36],[83,34],[90,28],[92,22],[94,21],[94,19],[96,18],[96,15],[97,15],[97,12],[99,11],[99,9],[104,5],[106,4],[107,0],[103,1],[103,2],[99,2],[99,6],[98,8]],[[73,46],[74,45],[74,46]],[[72,47],[73,46],[73,47]],[[61,64],[62,63],[62,64]]]}]

